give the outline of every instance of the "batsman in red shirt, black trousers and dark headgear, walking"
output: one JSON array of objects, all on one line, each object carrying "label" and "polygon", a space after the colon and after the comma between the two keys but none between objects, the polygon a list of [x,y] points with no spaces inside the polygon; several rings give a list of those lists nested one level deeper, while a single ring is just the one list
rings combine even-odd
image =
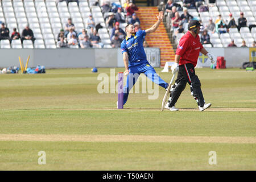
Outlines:
[{"label": "batsman in red shirt, black trousers and dark headgear, walking", "polygon": [[191,20],[188,23],[187,33],[180,39],[179,46],[177,46],[175,63],[172,65],[172,73],[177,73],[175,84],[171,87],[170,98],[164,108],[171,111],[178,111],[175,107],[181,92],[188,84],[191,86],[191,94],[197,101],[200,111],[210,107],[210,103],[205,104],[203,93],[201,90],[201,82],[196,76],[195,67],[199,57],[199,53],[208,56],[208,59],[214,63],[216,60],[210,55],[207,50],[200,43],[199,33],[201,24],[197,20]]}]

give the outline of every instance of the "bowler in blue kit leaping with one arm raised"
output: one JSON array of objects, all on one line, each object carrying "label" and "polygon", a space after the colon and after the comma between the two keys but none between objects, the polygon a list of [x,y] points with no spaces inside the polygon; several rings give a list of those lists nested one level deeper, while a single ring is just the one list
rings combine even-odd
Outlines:
[{"label": "bowler in blue kit leaping with one arm raised", "polygon": [[148,63],[143,48],[143,36],[156,31],[163,20],[163,11],[160,11],[159,15],[156,15],[156,17],[158,18],[157,22],[147,30],[135,32],[133,24],[127,24],[125,27],[127,36],[121,43],[123,63],[125,64],[124,75],[127,75],[126,85],[123,88],[123,105],[126,104],[129,91],[133,88],[133,85],[141,73],[144,73],[148,78],[151,78],[153,82],[163,88],[168,88],[168,83],[162,80],[162,78],[156,74],[155,69]]}]

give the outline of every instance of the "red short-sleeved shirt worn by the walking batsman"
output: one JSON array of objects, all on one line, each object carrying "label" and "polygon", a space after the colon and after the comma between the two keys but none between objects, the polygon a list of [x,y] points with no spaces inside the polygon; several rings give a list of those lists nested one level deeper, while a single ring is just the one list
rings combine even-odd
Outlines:
[{"label": "red short-sleeved shirt worn by the walking batsman", "polygon": [[196,67],[197,59],[201,49],[203,48],[200,43],[200,38],[196,35],[196,38],[188,31],[180,39],[179,46],[176,50],[176,55],[180,55],[179,65],[192,63]]}]

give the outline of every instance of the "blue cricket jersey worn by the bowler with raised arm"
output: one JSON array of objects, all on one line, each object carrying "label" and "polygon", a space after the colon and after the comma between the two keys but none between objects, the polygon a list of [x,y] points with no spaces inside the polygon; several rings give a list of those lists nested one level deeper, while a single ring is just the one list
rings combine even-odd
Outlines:
[{"label": "blue cricket jersey worn by the bowler with raised arm", "polygon": [[147,56],[143,48],[143,36],[146,35],[144,30],[136,32],[130,38],[126,36],[121,43],[121,51],[128,52],[129,67],[141,63],[147,63]]}]

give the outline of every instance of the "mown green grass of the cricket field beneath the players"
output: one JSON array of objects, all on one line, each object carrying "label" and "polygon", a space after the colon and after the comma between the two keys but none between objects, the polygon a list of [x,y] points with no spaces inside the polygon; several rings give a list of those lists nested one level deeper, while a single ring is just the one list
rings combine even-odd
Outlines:
[{"label": "mown green grass of the cricket field beneath the players", "polygon": [[[156,68],[169,82],[172,73],[161,70]],[[130,94],[125,109],[117,110],[117,94],[97,92],[100,73],[110,75],[110,68],[0,75],[0,169],[256,169],[255,71],[196,69],[205,101],[212,103],[203,112],[197,111],[188,85],[176,104],[181,111],[160,111],[163,88],[156,100],[148,100],[148,93]],[[193,136],[220,137],[220,142],[16,141],[1,138],[4,134]],[[253,140],[223,143],[221,137]],[[39,151],[46,151],[46,165],[38,164]],[[209,151],[216,151],[217,165],[209,165]]]}]

